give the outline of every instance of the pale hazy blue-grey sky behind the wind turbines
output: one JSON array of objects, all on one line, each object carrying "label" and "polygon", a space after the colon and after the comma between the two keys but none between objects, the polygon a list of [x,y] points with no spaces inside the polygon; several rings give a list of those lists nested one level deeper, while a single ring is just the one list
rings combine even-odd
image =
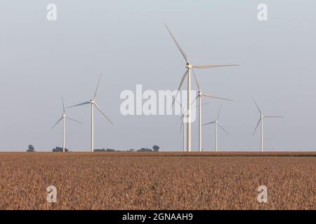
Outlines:
[{"label": "pale hazy blue-grey sky behind the wind turbines", "polygon": [[[57,21],[46,20],[55,3]],[[268,21],[257,19],[259,3]],[[196,71],[204,92],[230,97],[220,122],[219,150],[258,150],[252,132],[266,115],[267,150],[315,150],[315,1],[1,1],[0,148],[37,151],[61,146],[61,96],[69,106],[91,99],[98,76],[96,148],[141,148],[157,144],[180,151],[179,116],[121,116],[122,90],[175,90],[185,71],[164,22],[192,63],[238,63],[239,67]],[[195,87],[195,85],[194,85]],[[220,101],[206,99],[203,122],[216,116]],[[90,148],[90,107],[68,109],[67,148]],[[192,149],[197,150],[197,122]],[[213,127],[204,127],[204,150],[213,150]]]}]

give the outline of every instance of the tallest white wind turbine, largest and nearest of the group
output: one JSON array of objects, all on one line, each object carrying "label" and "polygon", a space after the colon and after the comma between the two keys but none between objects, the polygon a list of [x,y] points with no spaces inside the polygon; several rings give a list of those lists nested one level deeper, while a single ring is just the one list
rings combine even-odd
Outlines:
[{"label": "tallest white wind turbine, largest and nearest of the group", "polygon": [[[180,91],[181,86],[183,85],[184,80],[187,78],[187,150],[191,151],[191,69],[209,69],[209,68],[216,68],[216,67],[224,67],[224,66],[237,66],[239,64],[221,64],[221,65],[192,65],[190,63],[189,58],[185,54],[185,52],[182,50],[178,42],[176,41],[176,38],[174,38],[173,34],[171,33],[170,29],[164,25],[166,29],[169,31],[169,34],[173,38],[174,43],[178,46],[178,49],[180,50],[181,55],[185,59],[185,68],[187,69],[185,73],[183,74],[182,80],[180,82],[180,85],[178,87],[178,92]],[[177,92],[177,94],[178,94]],[[174,103],[174,101],[173,101]]]}]

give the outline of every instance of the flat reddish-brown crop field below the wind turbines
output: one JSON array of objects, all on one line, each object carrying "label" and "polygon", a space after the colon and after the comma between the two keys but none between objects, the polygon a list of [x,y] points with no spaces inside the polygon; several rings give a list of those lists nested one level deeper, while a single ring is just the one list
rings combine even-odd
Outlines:
[{"label": "flat reddish-brown crop field below the wind turbines", "polygon": [[316,153],[0,153],[0,168],[0,209],[316,209]]}]

